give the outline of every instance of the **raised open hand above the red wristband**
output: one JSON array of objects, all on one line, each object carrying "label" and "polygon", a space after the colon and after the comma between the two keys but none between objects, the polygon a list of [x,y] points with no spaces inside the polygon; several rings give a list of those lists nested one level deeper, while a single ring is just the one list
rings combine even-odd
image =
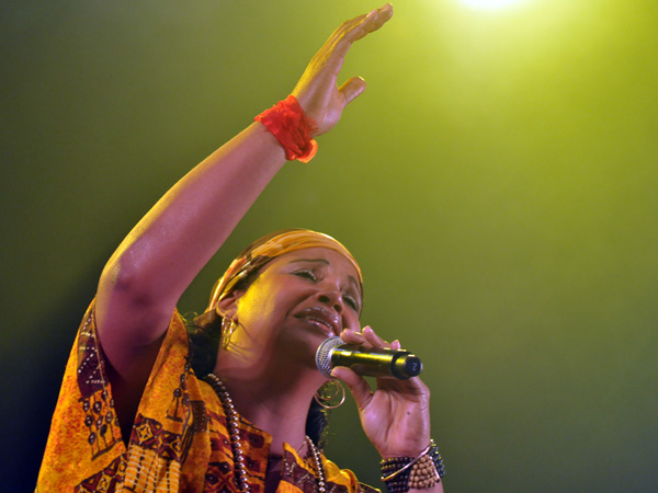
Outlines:
[{"label": "raised open hand above the red wristband", "polygon": [[368,14],[343,22],[306,67],[293,95],[306,115],[316,122],[318,130],[315,135],[329,131],[340,119],[344,107],[365,91],[365,81],[360,77],[348,79],[339,88],[338,74],[352,43],[377,31],[392,15],[393,7],[387,3]]}]

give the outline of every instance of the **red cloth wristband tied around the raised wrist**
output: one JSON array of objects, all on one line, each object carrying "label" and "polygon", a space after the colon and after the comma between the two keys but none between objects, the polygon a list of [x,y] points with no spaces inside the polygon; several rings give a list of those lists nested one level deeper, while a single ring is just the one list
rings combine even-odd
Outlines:
[{"label": "red cloth wristband tied around the raised wrist", "polygon": [[276,137],[288,161],[296,159],[308,162],[318,151],[318,142],[311,137],[317,131],[316,123],[304,114],[299,102],[292,94],[253,119],[263,124]]}]

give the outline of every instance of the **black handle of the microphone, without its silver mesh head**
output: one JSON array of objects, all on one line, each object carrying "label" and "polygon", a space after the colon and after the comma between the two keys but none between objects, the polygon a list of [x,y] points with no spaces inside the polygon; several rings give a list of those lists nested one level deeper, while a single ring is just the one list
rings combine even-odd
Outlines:
[{"label": "black handle of the microphone, without its silver mesh head", "polygon": [[341,344],[331,349],[331,366],[347,366],[367,377],[395,377],[406,380],[422,370],[420,358],[408,351],[365,348]]}]

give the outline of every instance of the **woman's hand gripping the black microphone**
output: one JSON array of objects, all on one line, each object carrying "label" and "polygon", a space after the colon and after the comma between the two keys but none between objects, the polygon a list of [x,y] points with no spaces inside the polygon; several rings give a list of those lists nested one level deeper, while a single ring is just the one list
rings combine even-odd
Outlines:
[{"label": "woman's hand gripping the black microphone", "polygon": [[[389,344],[370,326],[360,333],[344,330],[341,339],[367,347],[400,348],[398,341]],[[382,457],[417,457],[429,445],[430,391],[420,378],[378,378],[372,391],[367,381],[349,368],[337,367],[331,375],[352,391],[363,429]]]}]

